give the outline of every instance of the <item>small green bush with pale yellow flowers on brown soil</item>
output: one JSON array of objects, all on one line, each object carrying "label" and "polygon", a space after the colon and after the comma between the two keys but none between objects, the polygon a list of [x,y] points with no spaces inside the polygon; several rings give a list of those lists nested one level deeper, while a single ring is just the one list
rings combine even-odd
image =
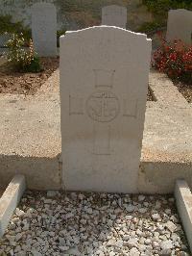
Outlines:
[{"label": "small green bush with pale yellow flowers on brown soil", "polygon": [[12,34],[7,42],[9,51],[5,53],[8,62],[18,71],[39,72],[41,70],[39,58],[37,57],[32,40],[29,49],[24,48],[25,39],[21,35]]}]

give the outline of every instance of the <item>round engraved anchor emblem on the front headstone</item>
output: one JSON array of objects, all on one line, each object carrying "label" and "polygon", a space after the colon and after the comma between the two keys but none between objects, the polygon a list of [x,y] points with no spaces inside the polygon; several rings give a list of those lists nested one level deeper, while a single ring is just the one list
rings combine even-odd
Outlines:
[{"label": "round engraved anchor emblem on the front headstone", "polygon": [[86,101],[88,116],[98,122],[109,122],[119,114],[119,100],[111,91],[96,91]]}]

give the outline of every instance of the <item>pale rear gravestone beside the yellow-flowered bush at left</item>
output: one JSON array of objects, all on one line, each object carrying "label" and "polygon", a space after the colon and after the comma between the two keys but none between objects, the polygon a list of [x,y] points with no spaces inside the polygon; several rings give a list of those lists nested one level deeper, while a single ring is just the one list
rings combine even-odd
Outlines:
[{"label": "pale rear gravestone beside the yellow-flowered bush at left", "polygon": [[53,4],[33,5],[32,38],[39,56],[57,56],[57,13]]}]

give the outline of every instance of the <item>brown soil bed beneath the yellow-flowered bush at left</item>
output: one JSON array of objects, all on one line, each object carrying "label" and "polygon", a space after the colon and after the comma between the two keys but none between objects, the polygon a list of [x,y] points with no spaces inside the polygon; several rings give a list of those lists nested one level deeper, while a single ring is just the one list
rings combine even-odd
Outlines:
[{"label": "brown soil bed beneath the yellow-flowered bush at left", "polygon": [[59,67],[59,58],[40,58],[43,71],[21,73],[9,64],[0,65],[0,93],[35,94],[41,85]]}]

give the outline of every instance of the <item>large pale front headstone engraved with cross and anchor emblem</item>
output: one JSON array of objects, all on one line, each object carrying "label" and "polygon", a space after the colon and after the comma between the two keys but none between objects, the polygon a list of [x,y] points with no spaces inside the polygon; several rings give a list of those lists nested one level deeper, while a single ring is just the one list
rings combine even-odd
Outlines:
[{"label": "large pale front headstone engraved with cross and anchor emblem", "polygon": [[99,26],[60,38],[63,189],[137,192],[151,39]]}]

